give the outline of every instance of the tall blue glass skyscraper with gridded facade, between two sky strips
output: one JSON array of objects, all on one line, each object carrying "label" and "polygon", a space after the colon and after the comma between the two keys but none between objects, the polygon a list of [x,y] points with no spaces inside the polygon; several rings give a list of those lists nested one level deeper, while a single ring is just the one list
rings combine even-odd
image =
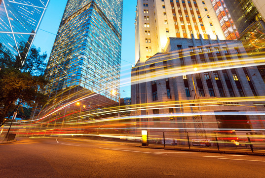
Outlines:
[{"label": "tall blue glass skyscraper with gridded facade, between two sky strips", "polygon": [[117,104],[122,7],[122,0],[68,0],[45,72],[51,104],[84,97],[82,111]]}]

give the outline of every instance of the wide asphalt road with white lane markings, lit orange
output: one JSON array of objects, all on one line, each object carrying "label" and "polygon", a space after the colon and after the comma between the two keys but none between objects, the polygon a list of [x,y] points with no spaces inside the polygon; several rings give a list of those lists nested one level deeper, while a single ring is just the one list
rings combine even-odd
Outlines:
[{"label": "wide asphalt road with white lane markings, lit orange", "polygon": [[265,157],[77,138],[0,144],[0,178],[265,178]]}]

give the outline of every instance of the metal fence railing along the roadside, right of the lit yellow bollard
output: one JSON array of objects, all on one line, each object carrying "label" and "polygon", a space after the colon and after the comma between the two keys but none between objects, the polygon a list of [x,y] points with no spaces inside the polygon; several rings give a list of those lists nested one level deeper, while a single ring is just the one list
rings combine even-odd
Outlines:
[{"label": "metal fence railing along the roadside, right of the lit yellow bollard", "polygon": [[147,145],[160,147],[205,148],[225,151],[241,149],[264,151],[265,132],[148,132]]}]

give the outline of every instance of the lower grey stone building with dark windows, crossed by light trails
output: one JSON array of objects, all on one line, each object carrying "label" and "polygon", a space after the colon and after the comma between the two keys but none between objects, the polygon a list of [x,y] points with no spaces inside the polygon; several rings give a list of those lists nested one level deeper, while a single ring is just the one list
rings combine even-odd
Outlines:
[{"label": "lower grey stone building with dark windows, crossed by light trails", "polygon": [[[169,38],[164,53],[132,69],[136,127],[196,136],[264,129],[263,115],[253,113],[265,111],[264,101],[256,99],[264,96],[265,84],[255,66],[244,67],[246,58],[240,41]],[[240,66],[232,65],[240,60]]]}]

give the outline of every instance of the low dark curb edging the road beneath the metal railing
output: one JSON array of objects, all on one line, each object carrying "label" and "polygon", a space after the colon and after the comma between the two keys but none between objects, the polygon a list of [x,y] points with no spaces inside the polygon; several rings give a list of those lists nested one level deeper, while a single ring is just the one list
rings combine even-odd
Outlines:
[{"label": "low dark curb edging the road beneath the metal railing", "polygon": [[249,153],[249,152],[235,152],[235,151],[217,151],[217,150],[200,150],[200,149],[185,149],[185,148],[156,148],[156,147],[149,147],[149,146],[137,146],[141,148],[150,148],[150,149],[164,149],[164,150],[180,150],[180,151],[198,151],[198,152],[208,152],[208,153],[226,153],[226,154],[247,154],[253,156],[265,156],[262,153]]}]

